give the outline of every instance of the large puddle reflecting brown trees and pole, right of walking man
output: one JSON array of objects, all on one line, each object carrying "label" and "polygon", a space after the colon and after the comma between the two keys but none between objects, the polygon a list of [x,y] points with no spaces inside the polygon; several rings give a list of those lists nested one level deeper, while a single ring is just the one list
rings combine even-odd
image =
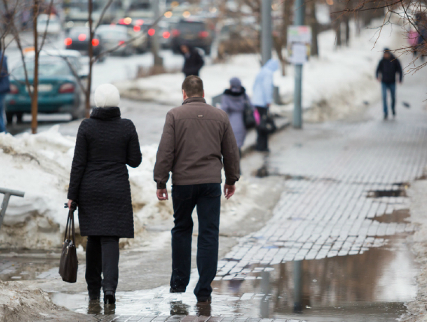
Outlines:
[{"label": "large puddle reflecting brown trees and pole, right of walking man", "polygon": [[[262,266],[251,266],[262,269]],[[389,321],[415,297],[416,267],[404,239],[360,255],[304,260],[251,273],[256,279],[219,280],[220,294],[245,298],[235,312],[310,321]],[[255,269],[257,271],[257,269]],[[258,305],[256,305],[258,304]]]}]

